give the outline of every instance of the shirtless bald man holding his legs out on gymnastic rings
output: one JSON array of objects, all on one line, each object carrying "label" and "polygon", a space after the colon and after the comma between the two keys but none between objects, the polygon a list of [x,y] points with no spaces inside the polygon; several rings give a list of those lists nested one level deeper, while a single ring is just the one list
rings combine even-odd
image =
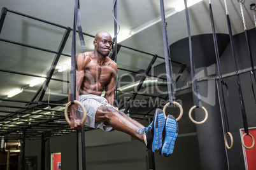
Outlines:
[{"label": "shirtless bald man holding his legs out on gymnastic rings", "polygon": [[[94,51],[76,55],[76,96],[79,96],[79,101],[87,110],[85,125],[104,131],[122,131],[145,143],[153,152],[161,150],[164,156],[172,154],[178,135],[176,119],[171,115],[165,119],[162,110],[157,108],[153,122],[145,128],[113,107],[117,63],[108,57],[113,45],[112,37],[108,32],[98,32],[93,44]],[[106,93],[103,98],[101,94],[104,90]],[[71,105],[71,129],[82,129],[82,117],[82,108]]]}]

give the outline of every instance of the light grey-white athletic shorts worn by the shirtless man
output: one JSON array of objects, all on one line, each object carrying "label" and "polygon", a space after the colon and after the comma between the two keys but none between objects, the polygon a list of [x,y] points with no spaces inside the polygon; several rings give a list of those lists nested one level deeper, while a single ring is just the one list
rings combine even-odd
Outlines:
[{"label": "light grey-white athletic shorts worn by the shirtless man", "polygon": [[[85,121],[86,126],[90,126],[95,129],[100,128],[100,129],[103,129],[104,131],[110,131],[112,129],[111,126],[105,126],[104,122],[100,122],[100,123],[95,122],[95,115],[96,115],[97,109],[100,106],[113,107],[108,103],[108,100],[106,100],[106,98],[103,98],[101,96],[96,96],[96,95],[80,95],[79,101],[85,106],[87,111],[87,119]],[[83,110],[79,105],[78,105],[77,114],[78,114],[78,119],[82,119]]]}]

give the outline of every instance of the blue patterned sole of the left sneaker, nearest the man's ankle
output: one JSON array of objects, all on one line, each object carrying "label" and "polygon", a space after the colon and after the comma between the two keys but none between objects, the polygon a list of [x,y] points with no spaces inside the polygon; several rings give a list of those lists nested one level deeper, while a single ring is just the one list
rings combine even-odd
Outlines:
[{"label": "blue patterned sole of the left sneaker, nearest the man's ankle", "polygon": [[152,151],[157,153],[162,148],[162,131],[164,129],[164,113],[156,113],[155,121],[153,122],[154,135],[152,142]]}]

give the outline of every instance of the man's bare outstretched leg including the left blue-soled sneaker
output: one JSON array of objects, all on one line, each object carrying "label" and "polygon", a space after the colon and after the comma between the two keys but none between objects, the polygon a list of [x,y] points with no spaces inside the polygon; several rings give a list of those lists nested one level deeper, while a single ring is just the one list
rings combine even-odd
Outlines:
[{"label": "man's bare outstretched leg including the left blue-soled sneaker", "polygon": [[162,131],[165,119],[164,113],[159,108],[155,110],[153,122],[147,128],[144,128],[144,126],[139,128],[117,110],[106,106],[101,106],[97,109],[96,122],[107,122],[117,131],[130,134],[137,140],[145,143],[146,147],[153,152],[159,152],[160,148],[162,148]]}]

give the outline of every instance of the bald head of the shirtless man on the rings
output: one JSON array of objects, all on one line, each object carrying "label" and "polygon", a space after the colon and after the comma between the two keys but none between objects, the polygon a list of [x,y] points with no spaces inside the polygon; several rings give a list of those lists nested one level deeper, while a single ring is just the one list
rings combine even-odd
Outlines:
[{"label": "bald head of the shirtless man on the rings", "polygon": [[97,52],[102,56],[108,56],[110,54],[113,45],[112,37],[109,34],[101,34],[94,41],[94,46]]}]

